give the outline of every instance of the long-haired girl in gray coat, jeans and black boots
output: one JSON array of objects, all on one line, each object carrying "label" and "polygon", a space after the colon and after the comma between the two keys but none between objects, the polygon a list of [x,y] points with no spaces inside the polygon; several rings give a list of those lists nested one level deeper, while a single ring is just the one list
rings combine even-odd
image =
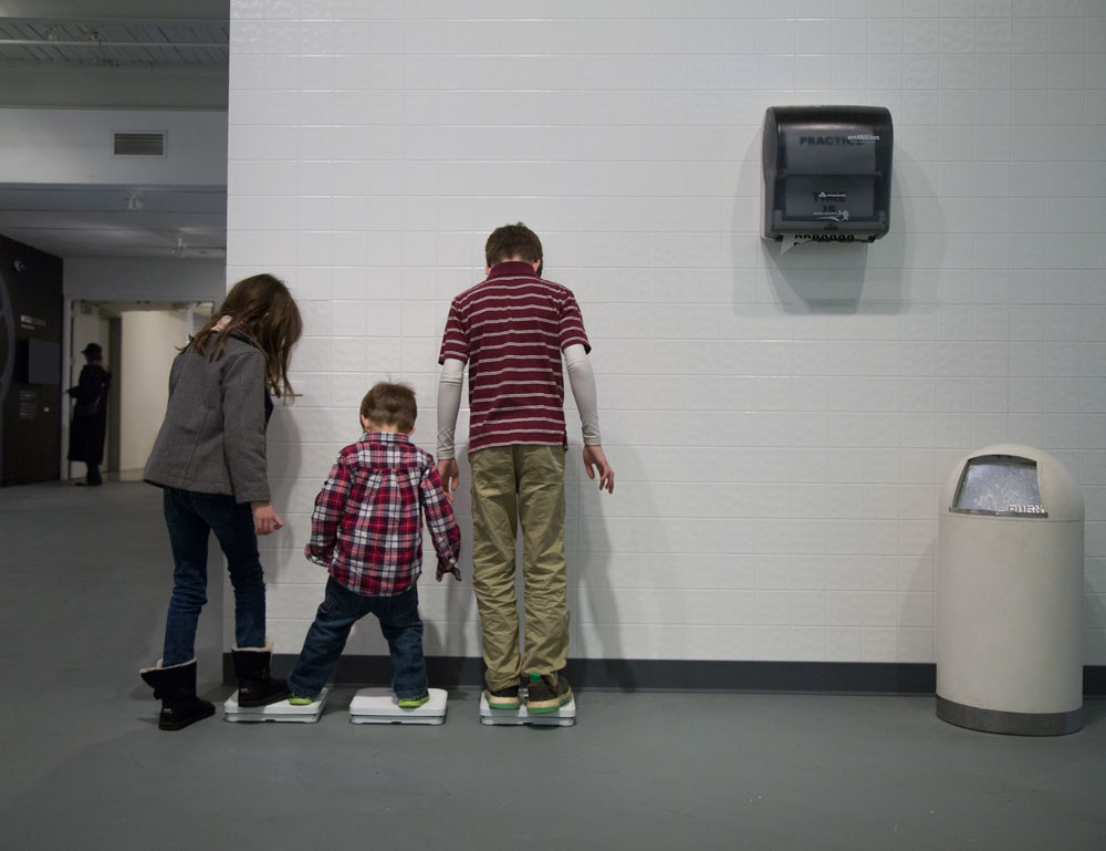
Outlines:
[{"label": "long-haired girl in gray coat, jeans and black boots", "polygon": [[234,589],[234,673],[240,706],[288,697],[269,674],[264,572],[258,536],[284,523],[270,501],[265,428],[271,395],[293,401],[288,371],[303,332],[300,309],[271,274],[239,281],[211,320],[173,362],[165,422],[144,478],[164,489],[173,549],[173,596],[164,653],[142,678],[161,700],[160,729],[180,729],[215,713],[196,696],[196,627],[207,602],[208,537],[227,557]]}]

